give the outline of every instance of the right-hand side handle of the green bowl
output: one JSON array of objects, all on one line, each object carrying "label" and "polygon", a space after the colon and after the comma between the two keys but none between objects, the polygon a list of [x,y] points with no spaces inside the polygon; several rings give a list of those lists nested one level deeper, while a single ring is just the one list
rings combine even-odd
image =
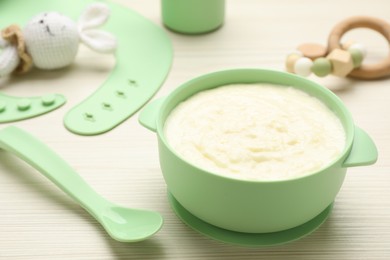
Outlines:
[{"label": "right-hand side handle of the green bowl", "polygon": [[343,162],[343,167],[370,165],[377,159],[378,150],[373,140],[365,131],[355,126],[352,149]]}]

